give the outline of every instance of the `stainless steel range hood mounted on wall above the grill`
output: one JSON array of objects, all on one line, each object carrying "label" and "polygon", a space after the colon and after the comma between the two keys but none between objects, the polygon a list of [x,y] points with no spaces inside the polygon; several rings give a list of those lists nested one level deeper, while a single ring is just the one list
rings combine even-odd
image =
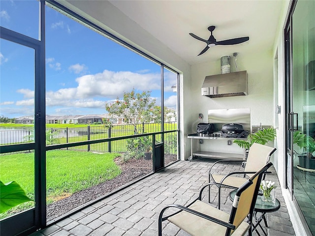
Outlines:
[{"label": "stainless steel range hood mounted on wall above the grill", "polygon": [[206,76],[201,95],[211,98],[248,95],[247,71]]}]

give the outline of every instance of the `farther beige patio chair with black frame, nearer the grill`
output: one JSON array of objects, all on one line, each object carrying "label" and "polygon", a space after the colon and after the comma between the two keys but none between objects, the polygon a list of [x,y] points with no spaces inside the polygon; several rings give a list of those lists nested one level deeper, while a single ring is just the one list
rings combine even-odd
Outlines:
[{"label": "farther beige patio chair with black frame, nearer the grill", "polygon": [[[215,162],[210,170],[209,170],[209,183],[222,183],[224,185],[227,185],[228,188],[237,189],[240,186],[242,186],[243,183],[249,178],[252,177],[254,173],[256,173],[258,170],[260,170],[266,163],[269,161],[270,156],[272,153],[274,153],[277,150],[277,148],[268,147],[265,145],[254,143],[252,144],[247,160],[239,160],[239,161],[233,161],[233,162],[241,162],[242,164],[245,164],[244,171],[241,172],[231,172],[227,175],[215,175],[212,174],[212,169],[217,165],[222,165],[226,162],[231,162],[229,160],[220,160]],[[245,163],[243,163],[245,162]],[[241,175],[241,176],[239,176]],[[264,177],[263,177],[264,179]],[[218,185],[219,191],[218,191],[218,209],[220,209],[221,206],[221,187]],[[211,189],[209,186],[209,203],[211,203]]]}]

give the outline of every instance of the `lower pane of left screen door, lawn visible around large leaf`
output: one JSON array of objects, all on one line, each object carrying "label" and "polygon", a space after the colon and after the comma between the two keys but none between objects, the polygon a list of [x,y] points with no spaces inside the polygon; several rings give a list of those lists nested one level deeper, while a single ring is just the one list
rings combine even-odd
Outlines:
[{"label": "lower pane of left screen door, lawn visible around large leaf", "polygon": [[[8,184],[15,181],[34,200],[34,152],[33,150],[0,155],[0,181]],[[16,207],[0,213],[0,219],[15,215],[34,207],[34,201],[18,204]]]}]

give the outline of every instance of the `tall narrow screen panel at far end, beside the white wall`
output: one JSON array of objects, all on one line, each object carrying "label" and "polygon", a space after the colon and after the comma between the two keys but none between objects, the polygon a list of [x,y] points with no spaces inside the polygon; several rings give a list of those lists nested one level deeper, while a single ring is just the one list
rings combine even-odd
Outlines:
[{"label": "tall narrow screen panel at far end, beside the white wall", "polygon": [[[163,69],[163,99],[164,99],[164,130],[177,129],[178,100],[177,73]],[[177,160],[178,139],[177,132],[164,134],[164,166]]]}]

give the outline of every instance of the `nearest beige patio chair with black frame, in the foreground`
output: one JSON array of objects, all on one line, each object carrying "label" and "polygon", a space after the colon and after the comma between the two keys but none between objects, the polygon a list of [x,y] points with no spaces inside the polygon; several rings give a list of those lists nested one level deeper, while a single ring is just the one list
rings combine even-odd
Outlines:
[{"label": "nearest beige patio chair with black frame, in the foreground", "polygon": [[[267,163],[262,169],[238,188],[230,214],[212,207],[208,203],[201,202],[202,191],[210,185],[220,183],[208,183],[199,194],[199,198],[189,206],[183,207],[177,204],[164,207],[158,217],[158,236],[162,236],[162,221],[168,220],[177,227],[192,236],[243,236],[249,233],[252,236],[252,214],[258,195],[260,181],[263,173],[272,166]],[[163,217],[165,210],[175,207],[177,212]],[[245,221],[248,218],[247,222]]]}]

